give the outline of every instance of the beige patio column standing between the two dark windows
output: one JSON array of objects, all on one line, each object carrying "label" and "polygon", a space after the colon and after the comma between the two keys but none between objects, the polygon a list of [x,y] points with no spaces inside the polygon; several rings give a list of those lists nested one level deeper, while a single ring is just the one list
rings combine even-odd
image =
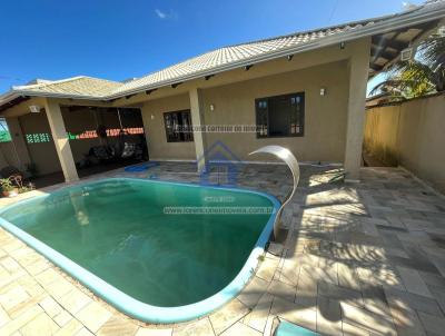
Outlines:
[{"label": "beige patio column standing between the two dark windows", "polygon": [[194,125],[194,140],[196,150],[196,164],[198,166],[198,172],[206,169],[206,134],[199,131],[201,126],[205,126],[204,121],[204,106],[202,106],[202,91],[200,89],[190,89],[190,110],[191,110],[191,122]]}]

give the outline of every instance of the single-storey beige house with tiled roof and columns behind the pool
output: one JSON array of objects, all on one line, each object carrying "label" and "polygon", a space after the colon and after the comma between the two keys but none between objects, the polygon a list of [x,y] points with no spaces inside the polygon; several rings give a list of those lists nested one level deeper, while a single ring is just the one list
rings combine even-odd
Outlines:
[{"label": "single-storey beige house with tiled roof and columns behind the pool", "polygon": [[267,159],[248,154],[274,144],[300,161],[342,164],[357,180],[367,80],[444,16],[445,1],[427,1],[398,14],[220,48],[126,82],[80,76],[13,87],[0,96],[14,152],[4,149],[6,156],[22,167],[40,158],[40,170],[77,180],[76,162],[99,141],[98,118],[119,129],[123,110],[125,127],[144,127],[155,160],[198,158],[201,170],[217,141],[240,160]]}]

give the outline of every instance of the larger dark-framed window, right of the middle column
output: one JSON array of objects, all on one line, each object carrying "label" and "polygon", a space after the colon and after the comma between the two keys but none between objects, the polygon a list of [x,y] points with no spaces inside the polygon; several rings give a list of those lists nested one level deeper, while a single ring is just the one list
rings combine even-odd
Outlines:
[{"label": "larger dark-framed window, right of the middle column", "polygon": [[301,137],[305,123],[305,93],[255,100],[257,138]]}]

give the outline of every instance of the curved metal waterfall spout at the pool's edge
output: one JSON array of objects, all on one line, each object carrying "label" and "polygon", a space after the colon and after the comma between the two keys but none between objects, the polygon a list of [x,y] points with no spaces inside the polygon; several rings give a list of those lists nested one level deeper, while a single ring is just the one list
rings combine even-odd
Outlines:
[{"label": "curved metal waterfall spout at the pool's edge", "polygon": [[295,156],[291,154],[290,150],[287,148],[284,148],[281,146],[265,146],[261,147],[249,155],[253,154],[271,154],[275,155],[277,158],[281,159],[290,169],[293,178],[294,178],[294,187],[289,191],[289,194],[284,198],[284,201],[281,202],[281,206],[278,209],[277,216],[275,217],[275,223],[274,223],[274,239],[278,237],[278,230],[279,230],[279,225],[281,221],[281,214],[286,205],[291,200],[291,198],[295,195],[295,191],[297,190],[298,181],[299,181],[299,166],[298,166],[298,160],[295,158]]}]

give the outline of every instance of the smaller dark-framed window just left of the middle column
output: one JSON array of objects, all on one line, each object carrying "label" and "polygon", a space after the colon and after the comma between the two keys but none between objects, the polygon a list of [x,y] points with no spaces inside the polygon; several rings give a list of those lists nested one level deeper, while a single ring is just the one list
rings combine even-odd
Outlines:
[{"label": "smaller dark-framed window just left of the middle column", "polygon": [[164,113],[167,142],[185,142],[194,140],[190,110]]}]

